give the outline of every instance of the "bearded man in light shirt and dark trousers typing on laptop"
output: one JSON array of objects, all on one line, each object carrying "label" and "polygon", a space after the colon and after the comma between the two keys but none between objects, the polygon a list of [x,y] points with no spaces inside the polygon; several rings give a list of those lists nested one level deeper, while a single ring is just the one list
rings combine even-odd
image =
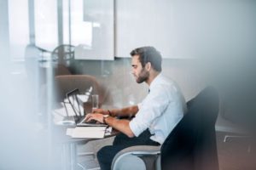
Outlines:
[{"label": "bearded man in light shirt and dark trousers typing on laptop", "polygon": [[[131,51],[132,74],[137,83],[146,82],[148,95],[139,105],[104,111],[98,109],[88,114],[87,121],[105,122],[121,132],[113,145],[104,146],[97,153],[102,170],[110,169],[113,157],[132,145],[160,145],[186,110],[183,95],[175,82],[163,77],[161,55],[154,47],[136,48]],[[132,117],[117,119],[118,117]]]}]

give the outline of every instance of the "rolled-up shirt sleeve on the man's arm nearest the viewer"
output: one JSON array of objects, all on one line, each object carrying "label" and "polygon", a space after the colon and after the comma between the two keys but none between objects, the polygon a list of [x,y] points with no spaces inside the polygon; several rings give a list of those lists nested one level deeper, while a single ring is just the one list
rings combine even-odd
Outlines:
[{"label": "rolled-up shirt sleeve on the man's arm nearest the viewer", "polygon": [[160,116],[170,103],[165,87],[154,88],[150,94],[138,105],[139,111],[131,120],[129,126],[135,136],[140,135],[150,124]]}]

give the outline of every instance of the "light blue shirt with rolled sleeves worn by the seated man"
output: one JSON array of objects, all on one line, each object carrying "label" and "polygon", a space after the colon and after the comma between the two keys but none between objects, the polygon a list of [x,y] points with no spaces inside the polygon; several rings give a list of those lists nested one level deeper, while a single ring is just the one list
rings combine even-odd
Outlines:
[{"label": "light blue shirt with rolled sleeves worn by the seated man", "polygon": [[162,144],[187,110],[185,99],[175,82],[159,74],[150,84],[150,93],[141,104],[139,111],[130,122],[135,136],[147,128],[150,139]]}]

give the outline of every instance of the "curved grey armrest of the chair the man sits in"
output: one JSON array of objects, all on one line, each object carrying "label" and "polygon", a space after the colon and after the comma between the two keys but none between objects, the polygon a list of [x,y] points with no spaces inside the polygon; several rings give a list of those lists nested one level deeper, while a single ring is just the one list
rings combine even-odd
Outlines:
[{"label": "curved grey armrest of the chair the man sits in", "polygon": [[111,169],[115,169],[115,164],[128,155],[158,156],[160,155],[160,146],[137,145],[125,148],[124,150],[120,150],[113,158]]}]

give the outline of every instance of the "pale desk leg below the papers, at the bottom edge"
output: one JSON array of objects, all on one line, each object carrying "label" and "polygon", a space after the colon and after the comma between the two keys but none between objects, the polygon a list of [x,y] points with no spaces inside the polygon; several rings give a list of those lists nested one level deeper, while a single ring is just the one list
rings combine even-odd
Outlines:
[{"label": "pale desk leg below the papers, at the bottom edge", "polygon": [[76,170],[77,144],[62,144],[61,147],[61,170]]}]

